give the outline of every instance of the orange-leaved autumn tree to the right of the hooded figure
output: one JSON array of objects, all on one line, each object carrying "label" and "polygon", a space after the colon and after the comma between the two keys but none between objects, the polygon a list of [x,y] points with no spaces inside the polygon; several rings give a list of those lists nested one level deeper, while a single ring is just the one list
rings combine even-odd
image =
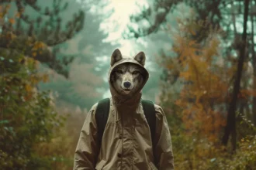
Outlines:
[{"label": "orange-leaved autumn tree to the right of the hooded figure", "polygon": [[174,34],[175,46],[171,48],[178,56],[165,58],[163,62],[164,67],[172,73],[177,70],[179,78],[185,82],[175,104],[182,108],[182,121],[188,134],[196,133],[215,141],[226,123],[223,113],[215,106],[226,102],[229,81],[223,79],[223,70],[227,73],[228,69],[214,63],[221,57],[220,41],[216,38],[218,36],[210,36],[205,44],[200,44],[189,38],[199,26],[179,23],[181,33]]}]

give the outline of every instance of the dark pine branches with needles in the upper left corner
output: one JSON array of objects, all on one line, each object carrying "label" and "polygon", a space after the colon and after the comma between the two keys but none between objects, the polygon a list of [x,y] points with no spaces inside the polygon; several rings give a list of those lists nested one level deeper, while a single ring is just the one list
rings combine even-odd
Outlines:
[{"label": "dark pine branches with needles in the upper left corner", "polygon": [[[28,37],[34,37],[48,47],[55,47],[53,51],[48,48],[42,53],[34,53],[26,49],[26,55],[35,57],[40,63],[46,64],[51,69],[56,70],[57,73],[67,77],[68,70],[65,66],[71,63],[73,58],[63,56],[59,59],[56,46],[71,39],[81,31],[84,26],[85,14],[82,11],[79,11],[78,14],[74,13],[74,18],[64,25],[61,15],[62,12],[67,10],[68,3],[65,2],[63,5],[62,2],[62,0],[54,0],[52,4],[47,4],[44,8],[42,8],[44,6],[43,2],[31,0],[16,0],[14,2],[1,0],[0,5],[9,4],[11,7],[5,18],[16,14],[17,17],[11,20],[12,24],[15,25],[13,33],[16,36],[22,36],[24,40]],[[3,31],[8,29],[10,29],[9,24],[2,26]],[[1,41],[0,46],[6,48],[5,44],[6,42]]]}]

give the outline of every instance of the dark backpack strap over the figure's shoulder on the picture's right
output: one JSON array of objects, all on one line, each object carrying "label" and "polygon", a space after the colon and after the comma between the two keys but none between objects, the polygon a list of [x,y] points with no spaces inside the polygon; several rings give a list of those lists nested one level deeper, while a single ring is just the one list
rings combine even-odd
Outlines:
[{"label": "dark backpack strap over the figure's shoulder on the picture's right", "polygon": [[154,135],[156,132],[156,114],[154,110],[154,103],[150,100],[141,100],[141,104],[147,119],[147,124],[150,127],[151,141],[153,146],[155,146]]}]

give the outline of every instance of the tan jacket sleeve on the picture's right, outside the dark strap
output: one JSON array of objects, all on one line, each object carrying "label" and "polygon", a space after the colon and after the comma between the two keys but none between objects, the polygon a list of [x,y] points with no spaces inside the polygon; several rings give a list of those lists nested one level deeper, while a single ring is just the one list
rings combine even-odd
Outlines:
[{"label": "tan jacket sleeve on the picture's right, outside the dark strap", "polygon": [[171,134],[164,110],[155,105],[156,110],[156,134],[154,138],[155,164],[158,169],[174,170],[174,157],[171,145]]}]

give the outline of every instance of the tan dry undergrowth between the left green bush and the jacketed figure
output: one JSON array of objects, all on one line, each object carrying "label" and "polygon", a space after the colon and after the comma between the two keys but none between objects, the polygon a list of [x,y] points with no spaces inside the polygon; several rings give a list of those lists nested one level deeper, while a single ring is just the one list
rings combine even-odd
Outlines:
[{"label": "tan dry undergrowth between the left green bush and the jacketed figure", "polygon": [[78,144],[81,126],[85,121],[85,114],[67,114],[69,111],[60,108],[57,112],[67,115],[64,127],[54,132],[54,138],[41,142],[35,149],[40,157],[50,160],[51,169],[69,170],[73,168],[74,151]]}]

